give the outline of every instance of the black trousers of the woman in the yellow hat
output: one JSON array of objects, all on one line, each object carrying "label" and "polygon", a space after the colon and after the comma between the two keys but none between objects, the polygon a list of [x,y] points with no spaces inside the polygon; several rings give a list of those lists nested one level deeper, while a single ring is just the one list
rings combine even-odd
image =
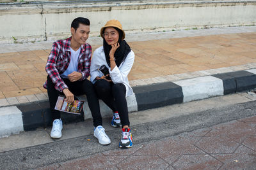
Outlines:
[{"label": "black trousers of the woman in the yellow hat", "polygon": [[99,79],[94,84],[99,99],[102,99],[112,111],[118,111],[122,127],[130,126],[128,108],[125,98],[125,85],[123,83],[108,82]]}]

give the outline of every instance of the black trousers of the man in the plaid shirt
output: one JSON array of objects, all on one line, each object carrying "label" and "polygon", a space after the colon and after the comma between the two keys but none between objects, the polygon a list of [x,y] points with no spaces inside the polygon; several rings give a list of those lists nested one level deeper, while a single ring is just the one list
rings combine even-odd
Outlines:
[{"label": "black trousers of the man in the plaid shirt", "polygon": [[[78,96],[85,94],[88,101],[88,106],[92,112],[93,117],[93,125],[97,127],[98,125],[102,125],[102,118],[100,114],[99,107],[99,99],[97,94],[93,88],[93,84],[89,80],[83,81],[69,81],[67,78],[63,78],[63,81],[68,86],[68,90],[72,92],[72,94]],[[54,110],[58,96],[64,95],[62,92],[59,92],[54,88],[54,83],[49,76],[47,76],[47,93],[50,102],[50,108],[52,113],[52,120],[56,118],[60,118],[60,111]]]}]

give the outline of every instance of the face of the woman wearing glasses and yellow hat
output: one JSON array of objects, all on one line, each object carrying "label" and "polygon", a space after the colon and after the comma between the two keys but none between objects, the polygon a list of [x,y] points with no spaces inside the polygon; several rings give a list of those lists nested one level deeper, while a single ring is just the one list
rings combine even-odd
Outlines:
[{"label": "face of the woman wearing glasses and yellow hat", "polygon": [[103,35],[108,45],[113,45],[118,42],[119,33],[113,27],[106,27]]}]

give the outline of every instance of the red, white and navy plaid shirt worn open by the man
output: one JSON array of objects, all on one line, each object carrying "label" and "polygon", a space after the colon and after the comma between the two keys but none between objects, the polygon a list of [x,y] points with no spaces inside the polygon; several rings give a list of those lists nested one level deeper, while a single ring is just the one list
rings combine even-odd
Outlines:
[{"label": "red, white and navy plaid shirt worn open by the man", "polygon": [[[67,85],[61,79],[60,74],[65,72],[70,63],[70,41],[71,37],[55,41],[45,66],[45,71],[55,84],[55,89],[60,92],[63,89],[68,89]],[[91,57],[92,47],[88,43],[81,45],[77,66],[77,72],[82,73],[82,78],[79,81],[85,80],[90,75]],[[47,89],[47,81],[44,83],[44,88]]]}]

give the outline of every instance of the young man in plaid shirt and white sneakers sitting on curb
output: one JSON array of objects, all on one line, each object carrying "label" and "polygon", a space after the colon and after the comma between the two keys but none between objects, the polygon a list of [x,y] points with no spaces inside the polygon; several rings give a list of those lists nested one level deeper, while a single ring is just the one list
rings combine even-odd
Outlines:
[{"label": "young man in plaid shirt and white sneakers sitting on curb", "polygon": [[90,20],[82,17],[74,19],[70,31],[70,38],[53,43],[45,66],[48,76],[44,87],[49,96],[53,120],[51,138],[61,138],[60,111],[54,110],[58,96],[64,94],[65,100],[72,103],[74,95],[86,94],[93,125],[97,125],[94,136],[102,145],[108,145],[111,141],[102,127],[99,100],[93,84],[87,80],[92,57],[92,47],[86,43],[90,33]]}]

